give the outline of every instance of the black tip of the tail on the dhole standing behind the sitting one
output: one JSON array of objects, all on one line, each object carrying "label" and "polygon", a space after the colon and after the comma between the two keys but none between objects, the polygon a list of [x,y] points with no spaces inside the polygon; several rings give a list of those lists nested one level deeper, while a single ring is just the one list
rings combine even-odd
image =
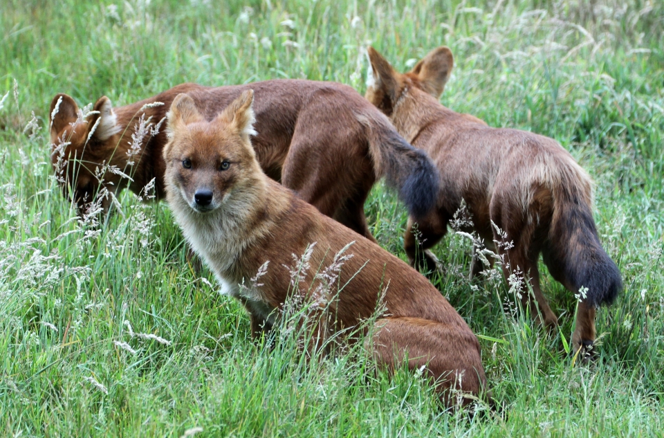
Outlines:
[{"label": "black tip of the tail on the dhole standing behind the sitting one", "polygon": [[400,199],[415,218],[427,215],[436,204],[440,187],[438,170],[429,156],[421,150],[412,152],[416,164],[399,190]]}]

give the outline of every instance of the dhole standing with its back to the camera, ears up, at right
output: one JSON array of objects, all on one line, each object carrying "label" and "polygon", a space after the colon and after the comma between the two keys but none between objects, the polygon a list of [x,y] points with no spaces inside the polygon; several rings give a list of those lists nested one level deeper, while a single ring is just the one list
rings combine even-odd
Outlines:
[{"label": "dhole standing with its back to the camera, ears up, at right", "polygon": [[[409,143],[426,151],[440,172],[436,207],[409,220],[404,240],[412,265],[436,269],[430,248],[465,201],[472,219],[468,230],[501,258],[505,277],[528,278],[545,325],[554,327],[557,317],[540,289],[540,253],[553,278],[580,296],[572,340],[575,352],[587,359],[596,338],[596,308],[610,304],[622,288],[618,267],[598,238],[588,174],[551,138],[488,127],[443,107],[439,97],[454,64],[449,48],[436,48],[405,74],[374,48],[369,60],[367,99]],[[472,275],[485,267],[478,250],[473,249]],[[521,293],[524,308],[539,319],[527,288]]]}]

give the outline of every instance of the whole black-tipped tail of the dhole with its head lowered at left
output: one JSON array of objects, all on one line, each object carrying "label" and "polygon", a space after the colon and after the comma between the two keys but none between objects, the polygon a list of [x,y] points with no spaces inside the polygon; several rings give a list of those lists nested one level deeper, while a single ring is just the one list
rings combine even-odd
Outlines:
[{"label": "whole black-tipped tail of the dhole with its head lowered at left", "polygon": [[398,190],[399,199],[415,219],[424,217],[436,204],[439,173],[429,156],[403,139],[382,114],[361,117],[369,134],[369,149],[376,177]]}]

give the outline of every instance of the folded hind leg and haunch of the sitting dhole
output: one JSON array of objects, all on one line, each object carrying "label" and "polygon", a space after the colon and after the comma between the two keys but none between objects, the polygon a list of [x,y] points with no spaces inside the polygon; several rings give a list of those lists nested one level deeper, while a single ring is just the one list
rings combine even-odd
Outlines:
[{"label": "folded hind leg and haunch of the sitting dhole", "polygon": [[391,371],[407,357],[407,367],[430,378],[448,406],[470,403],[486,385],[479,343],[468,327],[422,318],[382,318],[376,321],[369,349],[378,365]]}]

